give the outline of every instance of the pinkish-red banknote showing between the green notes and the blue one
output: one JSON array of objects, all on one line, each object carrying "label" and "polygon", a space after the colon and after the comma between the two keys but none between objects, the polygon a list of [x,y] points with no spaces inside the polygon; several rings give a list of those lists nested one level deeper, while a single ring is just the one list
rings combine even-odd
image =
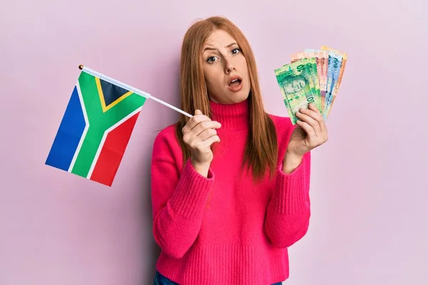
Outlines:
[{"label": "pinkish-red banknote showing between the green notes and the blue one", "polygon": [[305,51],[291,55],[291,62],[295,62],[302,58],[315,58],[317,63],[317,76],[320,88],[320,111],[324,110],[325,94],[327,93],[327,68],[328,54],[327,51]]}]

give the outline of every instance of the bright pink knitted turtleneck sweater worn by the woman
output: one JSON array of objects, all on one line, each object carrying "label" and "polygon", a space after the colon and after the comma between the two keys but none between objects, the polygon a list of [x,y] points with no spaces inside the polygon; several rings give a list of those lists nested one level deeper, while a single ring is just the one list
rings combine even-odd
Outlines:
[{"label": "bright pink knitted turtleneck sweater worn by the woman", "polygon": [[[294,126],[270,115],[277,129],[275,179],[255,185],[240,164],[248,135],[248,102],[212,103],[220,144],[208,177],[195,172],[173,125],[153,145],[153,235],[156,269],[180,285],[268,285],[289,276],[287,247],[310,221],[310,152],[290,174],[282,159]],[[182,169],[183,168],[183,169]]]}]

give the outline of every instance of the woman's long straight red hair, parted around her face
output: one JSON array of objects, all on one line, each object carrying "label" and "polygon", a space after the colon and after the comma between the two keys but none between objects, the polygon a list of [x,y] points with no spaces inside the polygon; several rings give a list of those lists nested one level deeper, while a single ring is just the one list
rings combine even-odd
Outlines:
[{"label": "woman's long straight red hair, parted around her face", "polygon": [[[180,61],[180,97],[181,108],[187,113],[194,114],[196,109],[212,118],[210,101],[205,85],[201,52],[203,45],[215,29],[223,29],[235,38],[245,56],[250,77],[250,94],[248,96],[250,130],[245,145],[243,166],[247,165],[253,172],[253,178],[262,178],[267,170],[270,177],[275,174],[277,164],[277,135],[275,125],[263,107],[262,95],[258,80],[258,71],[253,51],[247,38],[230,20],[213,16],[196,21],[183,38]],[[188,122],[188,117],[180,115],[176,124],[176,135],[183,150],[183,161],[190,157],[190,150],[183,142],[182,128]]]}]

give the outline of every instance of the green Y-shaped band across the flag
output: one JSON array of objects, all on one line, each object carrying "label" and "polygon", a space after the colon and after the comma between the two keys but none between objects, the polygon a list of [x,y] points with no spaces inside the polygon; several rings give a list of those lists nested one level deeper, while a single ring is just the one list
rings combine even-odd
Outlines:
[{"label": "green Y-shaped band across the flag", "polygon": [[[100,96],[96,86],[96,78],[91,74],[82,72],[78,78],[78,83],[86,108],[89,128],[71,172],[76,175],[87,177],[106,130],[123,118],[126,118],[127,115],[133,113],[138,108],[141,108],[146,102],[146,98],[132,93],[107,110],[106,113],[103,113]],[[106,92],[106,90],[104,90],[104,92]]]}]

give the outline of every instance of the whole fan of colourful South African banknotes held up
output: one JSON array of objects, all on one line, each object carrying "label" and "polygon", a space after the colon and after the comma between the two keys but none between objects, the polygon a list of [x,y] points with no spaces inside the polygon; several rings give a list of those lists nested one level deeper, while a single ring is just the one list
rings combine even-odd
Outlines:
[{"label": "whole fan of colourful South African banknotes held up", "polygon": [[292,54],[291,63],[275,69],[277,83],[295,125],[295,113],[314,103],[327,120],[339,93],[347,54],[328,46]]}]

